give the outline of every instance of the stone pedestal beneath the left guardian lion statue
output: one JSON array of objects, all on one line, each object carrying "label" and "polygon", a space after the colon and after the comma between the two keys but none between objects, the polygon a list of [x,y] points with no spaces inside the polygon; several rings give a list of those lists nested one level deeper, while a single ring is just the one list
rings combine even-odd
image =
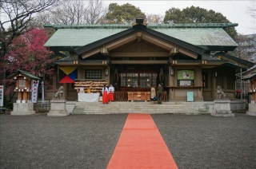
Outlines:
[{"label": "stone pedestal beneath the left guardian lion statue", "polygon": [[69,116],[70,113],[66,110],[66,100],[50,100],[50,112],[48,116]]}]

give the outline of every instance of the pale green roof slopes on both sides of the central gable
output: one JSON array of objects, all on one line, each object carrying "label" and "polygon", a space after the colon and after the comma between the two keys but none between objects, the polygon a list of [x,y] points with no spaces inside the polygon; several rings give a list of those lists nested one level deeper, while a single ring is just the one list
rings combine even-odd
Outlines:
[{"label": "pale green roof slopes on both sides of the central gable", "polygon": [[[228,26],[238,26],[238,24],[148,24],[147,28],[201,46],[203,49],[223,51],[234,50],[238,46],[223,29]],[[75,49],[132,28],[131,25],[47,25],[45,27],[58,29],[45,44],[58,49],[62,46]]]}]

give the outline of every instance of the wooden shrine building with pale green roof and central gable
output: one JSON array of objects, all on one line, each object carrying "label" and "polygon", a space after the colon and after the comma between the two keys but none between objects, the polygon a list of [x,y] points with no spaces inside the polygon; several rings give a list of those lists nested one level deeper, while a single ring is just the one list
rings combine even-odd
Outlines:
[{"label": "wooden shrine building with pale green roof and central gable", "polygon": [[[218,85],[235,100],[235,73],[254,64],[229,54],[238,46],[225,31],[232,26],[238,24],[146,24],[141,18],[134,25],[47,25],[56,29],[45,44],[58,66],[52,85],[64,86],[66,100],[106,84],[114,86],[114,100],[147,101],[159,83],[164,101],[187,101],[188,92],[193,101],[212,101]],[[56,91],[46,91],[46,99]]]}]

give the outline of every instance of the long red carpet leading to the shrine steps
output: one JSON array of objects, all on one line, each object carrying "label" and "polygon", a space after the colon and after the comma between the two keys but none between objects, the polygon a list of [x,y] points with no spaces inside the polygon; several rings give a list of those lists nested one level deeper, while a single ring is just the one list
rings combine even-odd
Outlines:
[{"label": "long red carpet leading to the shrine steps", "polygon": [[152,117],[149,114],[129,114],[106,168],[178,167]]}]

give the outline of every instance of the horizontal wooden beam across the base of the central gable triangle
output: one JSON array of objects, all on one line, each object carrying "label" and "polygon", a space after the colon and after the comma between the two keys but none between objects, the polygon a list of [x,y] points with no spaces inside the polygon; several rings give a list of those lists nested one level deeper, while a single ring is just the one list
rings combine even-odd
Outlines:
[{"label": "horizontal wooden beam across the base of the central gable triangle", "polygon": [[110,57],[169,57],[168,52],[110,52]]}]

